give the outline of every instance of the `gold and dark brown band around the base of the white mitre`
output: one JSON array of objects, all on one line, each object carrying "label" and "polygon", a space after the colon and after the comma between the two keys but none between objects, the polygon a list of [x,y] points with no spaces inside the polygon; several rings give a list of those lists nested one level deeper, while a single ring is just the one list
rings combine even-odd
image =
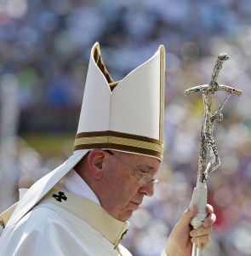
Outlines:
[{"label": "gold and dark brown band around the base of the white mitre", "polygon": [[159,140],[117,131],[78,133],[74,151],[80,149],[114,149],[134,154],[144,154],[163,160],[163,143]]}]

